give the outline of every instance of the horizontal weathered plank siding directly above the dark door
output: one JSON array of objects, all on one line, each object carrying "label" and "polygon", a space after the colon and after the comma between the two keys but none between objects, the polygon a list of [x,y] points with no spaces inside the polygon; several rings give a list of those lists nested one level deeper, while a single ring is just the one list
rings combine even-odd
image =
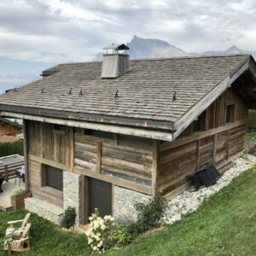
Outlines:
[{"label": "horizontal weathered plank siding directly above the dark door", "polygon": [[100,178],[124,187],[150,190],[152,140],[116,135],[111,139],[75,132],[75,172]]}]

